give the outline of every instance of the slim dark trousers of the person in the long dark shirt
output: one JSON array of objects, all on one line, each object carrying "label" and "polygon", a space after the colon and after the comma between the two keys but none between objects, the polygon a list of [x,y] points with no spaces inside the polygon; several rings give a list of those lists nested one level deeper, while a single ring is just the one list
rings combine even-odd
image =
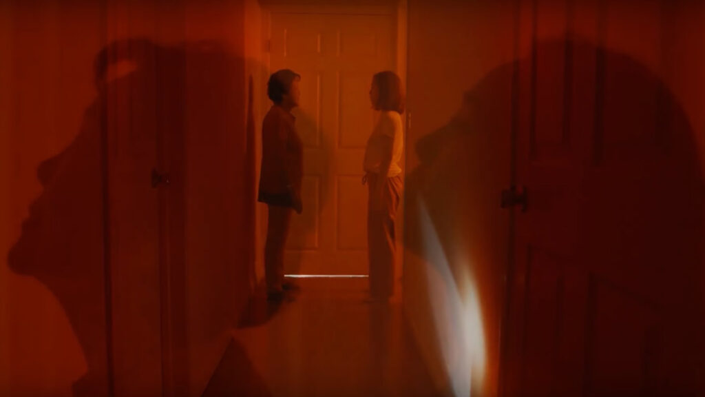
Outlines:
[{"label": "slim dark trousers of the person in the long dark shirt", "polygon": [[268,292],[277,292],[281,291],[284,282],[284,247],[293,210],[268,205],[267,211],[269,215],[264,245],[264,275]]}]

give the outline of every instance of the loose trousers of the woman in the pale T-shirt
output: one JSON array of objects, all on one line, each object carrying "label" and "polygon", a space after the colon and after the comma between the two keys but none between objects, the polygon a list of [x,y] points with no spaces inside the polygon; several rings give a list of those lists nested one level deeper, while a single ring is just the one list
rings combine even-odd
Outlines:
[{"label": "loose trousers of the woman in the pale T-shirt", "polygon": [[[396,212],[402,191],[401,176],[380,178],[378,174],[366,176],[367,200],[367,252],[369,255],[369,290],[374,298],[388,298],[394,293],[394,264],[396,263]],[[374,203],[373,192],[382,183],[381,203]]]}]

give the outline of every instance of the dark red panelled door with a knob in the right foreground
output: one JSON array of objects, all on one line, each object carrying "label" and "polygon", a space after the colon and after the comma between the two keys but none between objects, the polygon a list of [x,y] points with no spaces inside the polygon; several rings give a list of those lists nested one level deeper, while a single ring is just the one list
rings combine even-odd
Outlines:
[{"label": "dark red panelled door with a knob in the right foreground", "polygon": [[[703,179],[683,110],[642,63],[666,44],[617,34],[625,4],[520,10],[532,44],[517,64],[516,182],[528,206],[514,210],[506,396],[701,392]],[[624,23],[658,37],[658,12]],[[563,26],[560,38],[544,24]]]}]

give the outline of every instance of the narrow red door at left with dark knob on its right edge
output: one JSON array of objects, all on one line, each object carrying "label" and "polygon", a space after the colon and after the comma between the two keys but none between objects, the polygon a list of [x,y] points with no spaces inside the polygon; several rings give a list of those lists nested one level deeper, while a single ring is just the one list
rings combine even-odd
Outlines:
[{"label": "narrow red door at left with dark knob on its right edge", "polygon": [[[114,393],[161,393],[157,64],[150,46],[115,42],[108,70],[132,71],[106,83]],[[110,54],[110,57],[109,55]],[[129,291],[129,293],[128,293]]]}]

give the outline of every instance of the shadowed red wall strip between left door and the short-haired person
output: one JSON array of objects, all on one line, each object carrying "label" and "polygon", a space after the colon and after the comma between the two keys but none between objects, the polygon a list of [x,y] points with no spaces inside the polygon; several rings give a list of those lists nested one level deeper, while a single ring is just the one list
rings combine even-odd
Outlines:
[{"label": "shadowed red wall strip between left door and the short-haired person", "polygon": [[186,61],[185,324],[192,396],[204,389],[251,292],[243,3],[185,5],[187,40],[223,47],[203,64]]}]

